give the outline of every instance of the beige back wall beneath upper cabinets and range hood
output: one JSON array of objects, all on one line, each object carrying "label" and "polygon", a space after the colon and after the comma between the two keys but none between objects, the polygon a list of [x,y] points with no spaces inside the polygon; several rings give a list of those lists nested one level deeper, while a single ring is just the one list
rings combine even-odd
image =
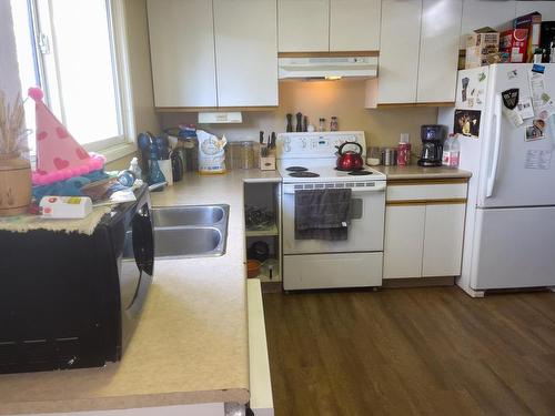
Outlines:
[{"label": "beige back wall beneath upper cabinets and range hood", "polygon": [[[259,131],[266,135],[284,132],[286,113],[302,112],[317,126],[319,118],[336,115],[340,130],[363,130],[369,145],[396,145],[401,133],[410,133],[411,142],[418,146],[420,125],[435,123],[436,108],[398,108],[384,110],[364,109],[364,81],[282,81],[280,106],[268,112],[243,112],[242,124],[211,124],[204,128],[218,135],[225,133],[229,140],[259,140]],[[196,123],[196,113],[168,113],[162,115],[164,128],[178,123]],[[293,128],[294,128],[293,123]]]}]

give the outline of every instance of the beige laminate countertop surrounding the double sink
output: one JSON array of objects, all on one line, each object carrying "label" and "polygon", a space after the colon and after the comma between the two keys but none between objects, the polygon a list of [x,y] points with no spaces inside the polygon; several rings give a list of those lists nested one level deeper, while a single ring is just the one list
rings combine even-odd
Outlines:
[{"label": "beige laminate countertop surrounding the double sink", "polygon": [[186,174],[154,206],[229,204],[226,253],[157,261],[137,332],[102,368],[0,375],[0,415],[249,400],[244,182],[275,171]]}]

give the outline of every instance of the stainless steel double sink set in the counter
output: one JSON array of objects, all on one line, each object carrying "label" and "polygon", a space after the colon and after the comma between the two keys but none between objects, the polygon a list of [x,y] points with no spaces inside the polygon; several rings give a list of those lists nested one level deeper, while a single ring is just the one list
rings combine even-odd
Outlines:
[{"label": "stainless steel double sink set in the counter", "polygon": [[154,256],[206,257],[225,254],[230,205],[154,207]]}]

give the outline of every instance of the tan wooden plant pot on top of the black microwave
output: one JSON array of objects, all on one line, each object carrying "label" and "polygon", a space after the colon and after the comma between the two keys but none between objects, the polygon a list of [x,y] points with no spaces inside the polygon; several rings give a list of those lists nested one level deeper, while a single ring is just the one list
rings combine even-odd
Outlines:
[{"label": "tan wooden plant pot on top of the black microwave", "polygon": [[31,203],[31,164],[19,154],[0,154],[0,216],[24,214]]}]

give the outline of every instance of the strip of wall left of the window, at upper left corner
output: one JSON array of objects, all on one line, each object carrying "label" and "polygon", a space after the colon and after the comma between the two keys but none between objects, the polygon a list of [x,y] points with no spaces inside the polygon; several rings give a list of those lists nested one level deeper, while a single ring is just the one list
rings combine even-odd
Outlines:
[{"label": "strip of wall left of the window, at upper left corner", "polygon": [[11,103],[20,92],[20,82],[9,0],[0,0],[0,90]]}]

